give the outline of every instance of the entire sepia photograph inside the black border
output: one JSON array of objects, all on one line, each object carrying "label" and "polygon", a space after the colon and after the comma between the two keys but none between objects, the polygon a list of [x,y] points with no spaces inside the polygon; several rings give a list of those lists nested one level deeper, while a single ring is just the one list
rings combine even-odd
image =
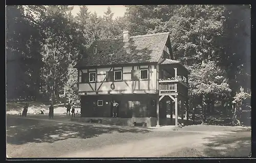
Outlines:
[{"label": "entire sepia photograph inside the black border", "polygon": [[7,5],[6,158],[248,158],[250,58],[250,5]]}]

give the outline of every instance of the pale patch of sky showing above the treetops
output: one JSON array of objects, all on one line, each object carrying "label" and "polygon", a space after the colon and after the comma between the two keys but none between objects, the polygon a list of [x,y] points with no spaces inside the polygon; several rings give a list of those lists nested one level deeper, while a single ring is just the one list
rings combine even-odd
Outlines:
[{"label": "pale patch of sky showing above the treetops", "polygon": [[[97,5],[97,6],[93,6],[93,5],[87,5],[88,7],[88,11],[91,13],[94,13],[94,11],[99,15],[99,16],[103,16],[104,12],[106,12],[107,8],[110,7],[112,13],[114,13],[113,15],[113,19],[115,19],[118,16],[123,16],[125,13],[125,7],[122,5]],[[80,8],[79,6],[74,6],[74,9],[72,11],[72,14],[74,16],[76,16],[76,14],[79,12]]]}]

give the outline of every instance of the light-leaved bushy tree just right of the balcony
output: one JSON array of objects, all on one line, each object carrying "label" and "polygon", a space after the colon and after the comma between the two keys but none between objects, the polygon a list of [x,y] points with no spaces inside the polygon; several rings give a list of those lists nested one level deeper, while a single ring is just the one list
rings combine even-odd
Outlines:
[{"label": "light-leaved bushy tree just right of the balcony", "polygon": [[191,69],[189,78],[189,95],[193,105],[202,106],[204,116],[206,111],[214,111],[215,100],[225,99],[231,92],[224,71],[214,61]]}]

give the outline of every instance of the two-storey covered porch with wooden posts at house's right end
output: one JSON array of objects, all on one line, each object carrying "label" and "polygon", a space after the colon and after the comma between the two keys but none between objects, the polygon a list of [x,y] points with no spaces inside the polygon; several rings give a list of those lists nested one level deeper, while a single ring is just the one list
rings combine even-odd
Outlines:
[{"label": "two-storey covered porch with wooden posts at house's right end", "polygon": [[189,122],[188,74],[179,61],[164,59],[159,64],[157,126]]}]

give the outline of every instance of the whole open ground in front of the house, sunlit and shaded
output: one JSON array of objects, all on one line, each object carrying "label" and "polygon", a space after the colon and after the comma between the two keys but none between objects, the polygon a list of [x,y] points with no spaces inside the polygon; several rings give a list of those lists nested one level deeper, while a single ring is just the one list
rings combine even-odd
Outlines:
[{"label": "whole open ground in front of the house, sunlit and shaded", "polygon": [[[34,123],[41,130],[34,130],[39,133],[37,135],[34,132],[23,131],[26,129],[25,126],[17,133],[17,130],[13,128],[17,125],[15,123],[28,125],[27,128]],[[9,129],[13,130],[13,132],[8,132],[10,137],[18,134],[20,138],[16,138],[19,141],[27,141],[15,144],[10,140],[7,143],[7,153],[10,157],[186,157],[190,155],[202,157],[214,152],[216,156],[220,156],[221,152],[248,155],[248,150],[250,150],[249,146],[246,146],[245,152],[241,151],[241,147],[248,143],[247,138],[250,137],[250,132],[242,131],[239,127],[197,125],[173,131],[168,127],[162,127],[162,129],[131,128],[71,122],[69,119],[61,118],[53,120],[32,117],[24,119],[16,117],[16,120],[12,119],[12,121],[9,119],[9,125]],[[228,132],[234,130],[240,131]],[[36,139],[41,141],[38,142]],[[54,139],[56,140],[49,142]],[[236,143],[230,145],[233,142]],[[229,154],[223,153],[222,155],[228,156]]]}]

